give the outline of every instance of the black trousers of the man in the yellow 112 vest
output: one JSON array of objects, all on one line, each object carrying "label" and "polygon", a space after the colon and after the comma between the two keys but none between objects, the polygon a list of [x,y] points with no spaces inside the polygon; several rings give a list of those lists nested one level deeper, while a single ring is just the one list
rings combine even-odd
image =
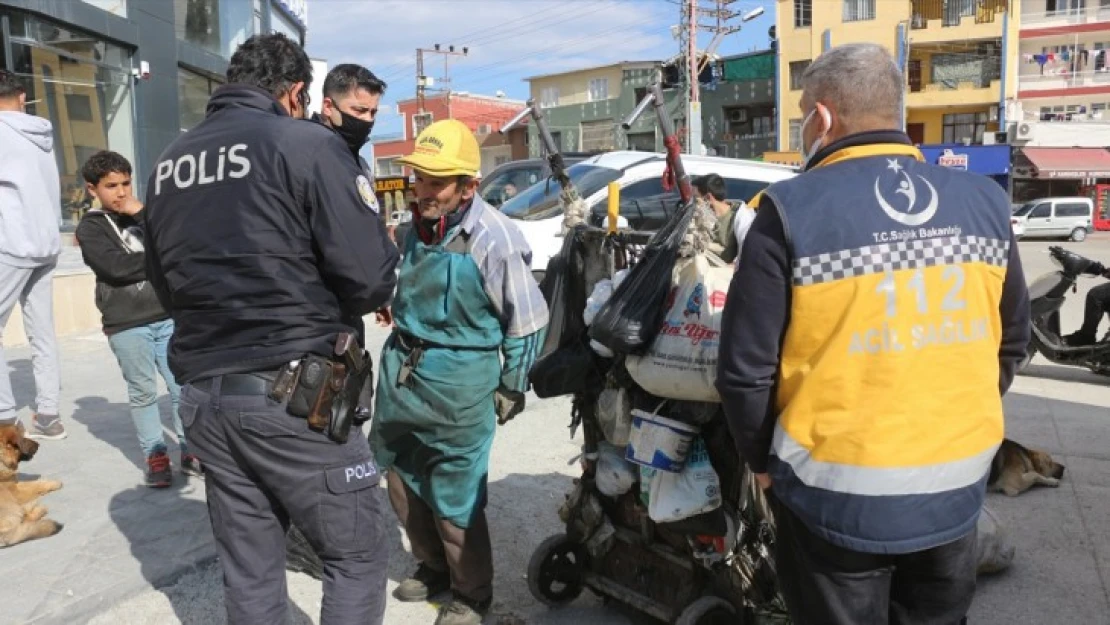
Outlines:
[{"label": "black trousers of the man in the yellow 112 vest", "polygon": [[775,565],[794,625],[960,625],[976,588],[976,532],[908,554],[854,552],[813,534],[768,493]]}]

